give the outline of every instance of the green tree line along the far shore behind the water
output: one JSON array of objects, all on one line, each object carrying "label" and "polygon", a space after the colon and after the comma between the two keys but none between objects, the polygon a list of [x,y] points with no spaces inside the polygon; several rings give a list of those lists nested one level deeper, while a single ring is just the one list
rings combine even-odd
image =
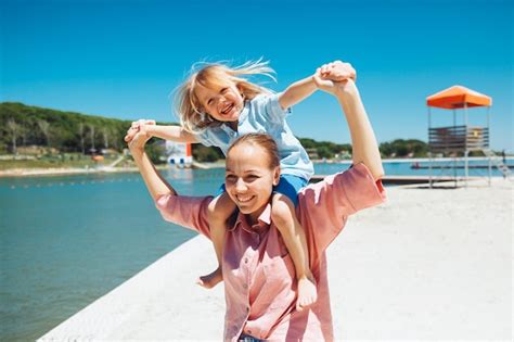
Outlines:
[{"label": "green tree line along the far shore behind the water", "polygon": [[[63,112],[25,105],[17,102],[0,103],[0,154],[16,153],[20,147],[38,145],[53,148],[60,152],[82,154],[111,149],[121,152],[131,121]],[[158,123],[172,125],[172,123]],[[314,159],[349,159],[351,144],[316,141],[299,138],[309,155]],[[159,153],[157,139],[152,139],[150,150]],[[424,141],[397,139],[380,144],[383,157],[426,156],[428,147]],[[198,162],[215,162],[223,157],[213,147],[193,144],[193,156]]]}]

